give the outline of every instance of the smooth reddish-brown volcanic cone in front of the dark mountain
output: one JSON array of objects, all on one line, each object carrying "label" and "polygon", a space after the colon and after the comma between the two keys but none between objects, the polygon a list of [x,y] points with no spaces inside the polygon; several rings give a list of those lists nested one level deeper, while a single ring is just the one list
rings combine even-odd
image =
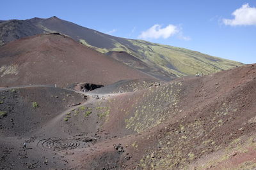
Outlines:
[{"label": "smooth reddish-brown volcanic cone in front of the dark mountain", "polygon": [[151,78],[96,52],[67,36],[43,34],[0,47],[0,87],[76,82],[106,85],[134,78]]}]

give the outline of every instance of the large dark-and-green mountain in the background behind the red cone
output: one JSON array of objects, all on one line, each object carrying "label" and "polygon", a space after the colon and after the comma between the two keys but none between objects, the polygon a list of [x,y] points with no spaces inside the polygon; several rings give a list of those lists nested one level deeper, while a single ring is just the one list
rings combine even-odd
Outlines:
[{"label": "large dark-and-green mountain in the background behind the red cone", "polygon": [[[31,18],[0,22],[0,31],[2,43],[42,32],[61,32],[61,34],[70,36],[70,38],[109,55],[109,57],[114,57],[116,60],[124,59],[124,53],[116,52],[125,52],[129,54],[130,60],[129,63],[124,62],[125,64],[161,80],[172,80],[201,72],[203,74],[216,73],[232,67],[243,66],[239,62],[212,57],[185,48],[110,36],[55,16],[46,19]],[[112,53],[115,53],[115,56],[111,55]],[[126,56],[128,56],[127,54]],[[139,65],[138,62],[140,62]]]}]

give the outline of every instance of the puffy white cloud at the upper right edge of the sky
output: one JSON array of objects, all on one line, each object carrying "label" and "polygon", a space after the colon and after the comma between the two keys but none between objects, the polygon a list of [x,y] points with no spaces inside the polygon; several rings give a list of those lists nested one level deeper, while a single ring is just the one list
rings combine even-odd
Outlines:
[{"label": "puffy white cloud at the upper right edge of the sky", "polygon": [[256,8],[244,4],[232,13],[234,19],[223,19],[225,25],[256,25]]}]

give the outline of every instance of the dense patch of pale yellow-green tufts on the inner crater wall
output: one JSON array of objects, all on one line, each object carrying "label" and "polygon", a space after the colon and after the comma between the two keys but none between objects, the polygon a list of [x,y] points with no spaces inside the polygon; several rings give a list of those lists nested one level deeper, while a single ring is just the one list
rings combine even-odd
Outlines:
[{"label": "dense patch of pale yellow-green tufts on the inner crater wall", "polygon": [[140,133],[180,113],[178,103],[181,86],[181,82],[175,81],[143,90],[141,98],[136,97],[134,109],[127,113],[130,117],[125,119],[126,128]]}]

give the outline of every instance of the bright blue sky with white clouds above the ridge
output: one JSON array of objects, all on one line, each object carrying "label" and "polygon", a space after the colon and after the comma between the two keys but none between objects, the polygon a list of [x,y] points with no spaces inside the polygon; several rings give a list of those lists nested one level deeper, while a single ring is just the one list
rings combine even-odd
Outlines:
[{"label": "bright blue sky with white clouds above the ridge", "polygon": [[113,36],[256,63],[255,0],[8,0],[1,7],[0,20],[56,15]]}]

